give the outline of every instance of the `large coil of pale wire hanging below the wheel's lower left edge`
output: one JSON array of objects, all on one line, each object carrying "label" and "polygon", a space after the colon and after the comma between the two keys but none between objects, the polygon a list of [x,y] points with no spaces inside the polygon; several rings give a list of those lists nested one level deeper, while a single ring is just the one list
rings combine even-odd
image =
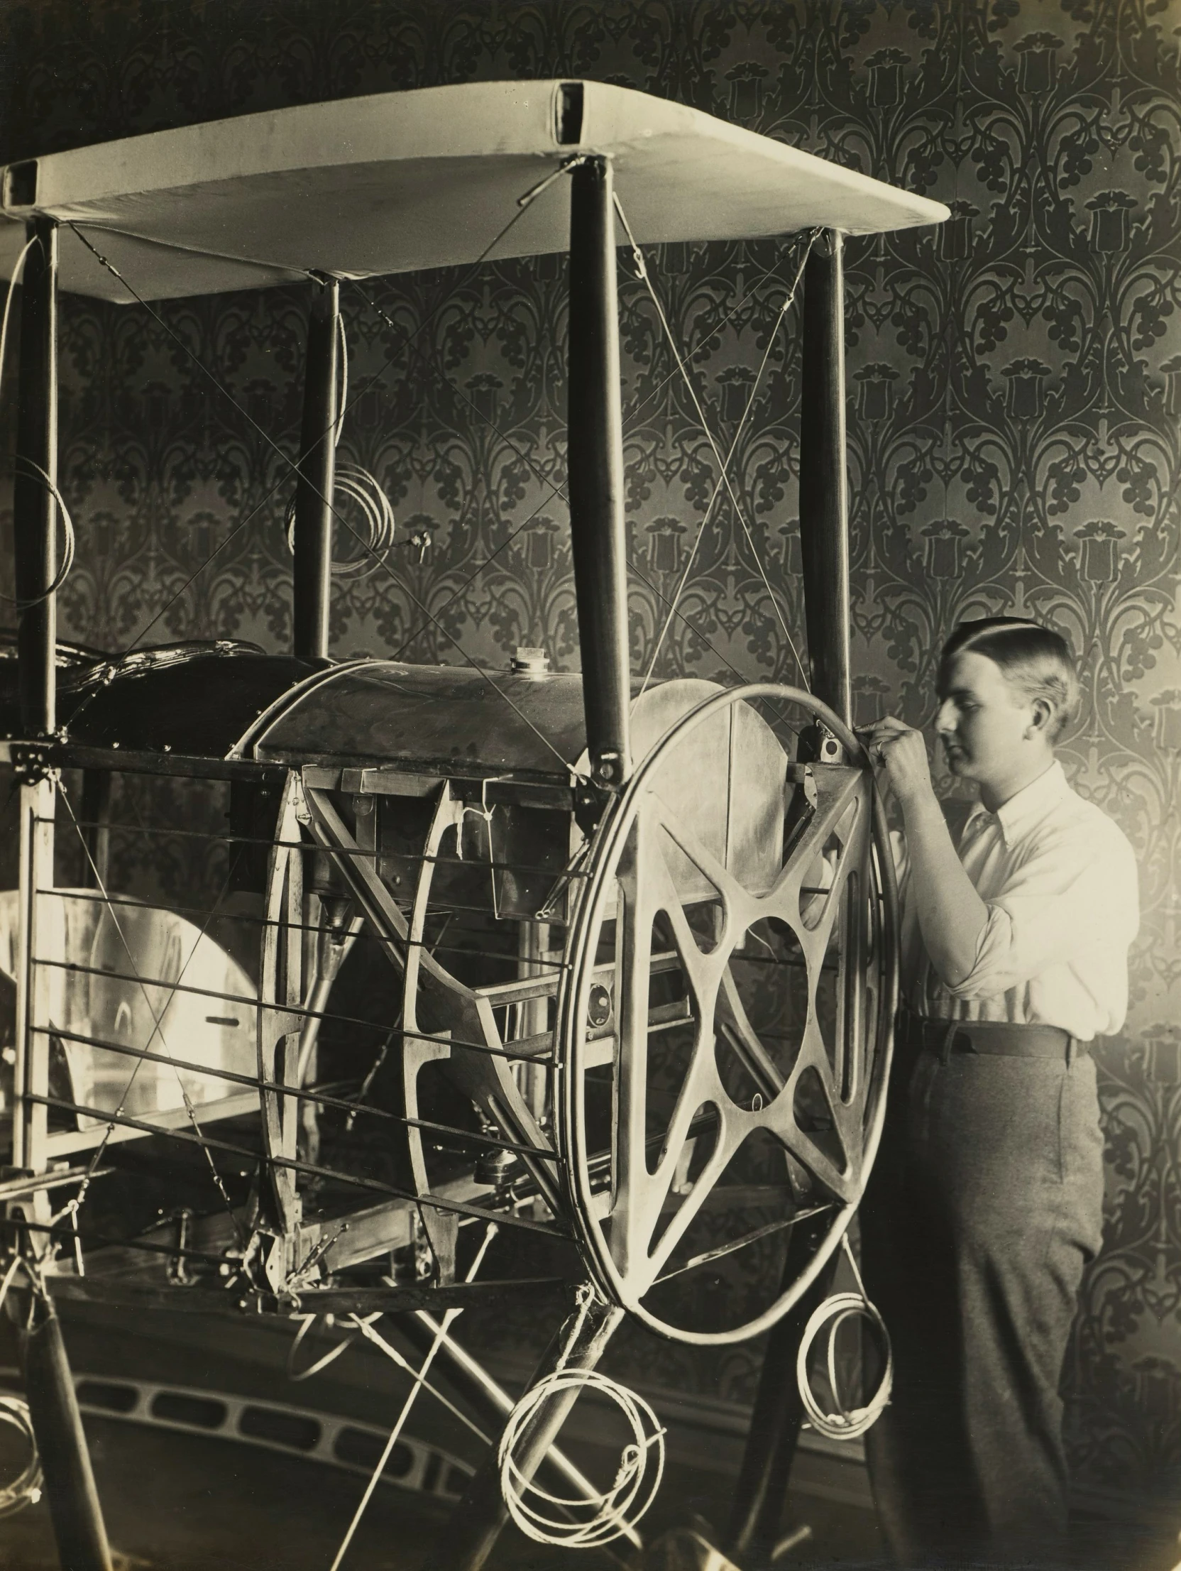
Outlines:
[{"label": "large coil of pale wire hanging below the wheel's lower left edge", "polygon": [[[589,1549],[623,1536],[636,1541],[634,1524],[655,1500],[660,1480],[664,1475],[664,1428],[649,1403],[598,1370],[565,1368],[570,1351],[586,1323],[590,1302],[592,1290],[583,1288],[580,1315],[558,1368],[531,1390],[526,1390],[512,1409],[496,1453],[501,1496],[509,1516],[536,1543],[567,1549]],[[589,1499],[550,1494],[526,1477],[514,1458],[517,1442],[534,1412],[569,1390],[594,1390],[614,1401],[631,1430],[631,1441],[620,1453],[614,1483],[609,1489]],[[562,1514],[556,1516],[553,1510]]]}]

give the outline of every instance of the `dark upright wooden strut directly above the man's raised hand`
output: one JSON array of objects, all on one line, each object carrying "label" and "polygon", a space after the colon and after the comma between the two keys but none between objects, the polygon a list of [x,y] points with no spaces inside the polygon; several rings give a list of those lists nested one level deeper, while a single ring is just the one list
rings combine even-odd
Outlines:
[{"label": "dark upright wooden strut directly above the man's raised hand", "polygon": [[799,545],[812,690],[846,723],[850,693],[843,237],[828,229],[804,269]]}]

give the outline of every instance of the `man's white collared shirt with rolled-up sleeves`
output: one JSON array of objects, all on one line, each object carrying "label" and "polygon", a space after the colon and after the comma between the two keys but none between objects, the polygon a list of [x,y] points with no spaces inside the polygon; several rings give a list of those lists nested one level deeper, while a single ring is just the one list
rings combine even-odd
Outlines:
[{"label": "man's white collared shirt with rolled-up sleeves", "polygon": [[1071,790],[1060,764],[997,812],[977,803],[960,861],[988,906],[975,965],[956,987],[933,971],[908,900],[909,859],[895,836],[901,892],[901,994],[936,1020],[1060,1026],[1080,1042],[1128,1012],[1128,946],[1140,924],[1135,858],[1123,831]]}]

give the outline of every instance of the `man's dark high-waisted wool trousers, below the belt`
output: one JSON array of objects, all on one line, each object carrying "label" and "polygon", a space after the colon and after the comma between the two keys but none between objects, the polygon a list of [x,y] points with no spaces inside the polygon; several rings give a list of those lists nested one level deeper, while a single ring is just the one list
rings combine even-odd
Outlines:
[{"label": "man's dark high-waisted wool trousers, below the belt", "polygon": [[900,1043],[861,1235],[895,1360],[870,1480],[906,1571],[1066,1563],[1059,1381],[1101,1230],[1088,1056]]}]

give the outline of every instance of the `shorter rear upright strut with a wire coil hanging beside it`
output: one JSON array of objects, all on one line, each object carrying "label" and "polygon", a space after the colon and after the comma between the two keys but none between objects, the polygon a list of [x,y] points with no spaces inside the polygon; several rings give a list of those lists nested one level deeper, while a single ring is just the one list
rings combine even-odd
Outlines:
[{"label": "shorter rear upright strut with a wire coil hanging beside it", "polygon": [[324,283],[314,281],[311,289],[292,539],[295,558],[292,638],[297,655],[316,660],[328,654],[341,286],[335,278],[328,278]]}]

